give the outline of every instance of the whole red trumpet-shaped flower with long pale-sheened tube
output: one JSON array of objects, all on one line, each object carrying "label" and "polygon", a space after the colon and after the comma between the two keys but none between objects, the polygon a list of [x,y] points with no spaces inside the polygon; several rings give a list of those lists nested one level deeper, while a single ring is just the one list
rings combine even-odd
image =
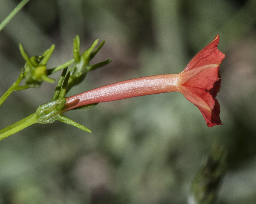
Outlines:
[{"label": "whole red trumpet-shaped flower with long pale-sheened tube", "polygon": [[80,106],[164,92],[181,92],[196,105],[208,127],[222,125],[220,105],[215,98],[220,91],[219,66],[225,55],[217,49],[219,35],[202,49],[179,74],[156,75],[102,86],[66,98],[64,111]]}]

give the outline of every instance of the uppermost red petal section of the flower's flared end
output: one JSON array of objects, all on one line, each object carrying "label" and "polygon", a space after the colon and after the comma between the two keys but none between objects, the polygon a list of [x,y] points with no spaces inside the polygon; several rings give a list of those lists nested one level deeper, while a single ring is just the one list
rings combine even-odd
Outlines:
[{"label": "uppermost red petal section of the flower's flared end", "polygon": [[220,36],[216,35],[214,40],[210,42],[204,49],[196,54],[195,57],[190,60],[188,65],[182,71],[188,71],[194,67],[201,67],[204,65],[210,64],[220,64],[221,61],[225,58],[225,55],[217,49],[217,45],[220,41]]}]

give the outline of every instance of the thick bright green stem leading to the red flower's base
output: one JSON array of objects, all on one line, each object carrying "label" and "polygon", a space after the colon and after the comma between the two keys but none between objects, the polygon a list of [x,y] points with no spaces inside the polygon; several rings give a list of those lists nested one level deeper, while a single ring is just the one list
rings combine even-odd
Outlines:
[{"label": "thick bright green stem leading to the red flower's base", "polygon": [[38,123],[36,118],[36,113],[31,114],[30,116],[0,130],[0,140],[13,135],[14,133],[27,128],[35,123]]}]

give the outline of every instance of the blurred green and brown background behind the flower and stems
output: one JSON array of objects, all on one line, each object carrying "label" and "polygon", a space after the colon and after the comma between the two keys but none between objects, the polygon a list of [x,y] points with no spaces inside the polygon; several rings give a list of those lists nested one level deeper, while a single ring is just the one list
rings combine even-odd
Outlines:
[{"label": "blurred green and brown background behind the flower and stems", "polygon": [[[19,0],[0,1],[2,21]],[[217,203],[256,200],[256,0],[30,0],[0,32],[0,94],[24,59],[55,44],[48,68],[99,38],[105,45],[68,96],[121,80],[180,73],[220,35],[226,54],[218,93],[223,126],[208,128],[198,108],[172,92],[106,102],[65,113],[92,130],[35,124],[0,141],[0,204],[184,204],[202,160],[218,143],[227,153]],[[58,80],[60,73],[54,74]],[[48,102],[55,84],[14,92],[0,128]]]}]

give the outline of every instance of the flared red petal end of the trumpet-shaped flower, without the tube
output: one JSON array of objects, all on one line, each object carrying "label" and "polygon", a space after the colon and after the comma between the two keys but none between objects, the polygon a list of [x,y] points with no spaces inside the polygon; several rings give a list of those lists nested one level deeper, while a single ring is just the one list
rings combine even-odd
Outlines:
[{"label": "flared red petal end of the trumpet-shaped flower, without the tube", "polygon": [[219,66],[225,55],[217,49],[218,43],[219,35],[180,73],[180,92],[199,108],[208,127],[222,125],[220,105],[215,97],[220,91]]}]

